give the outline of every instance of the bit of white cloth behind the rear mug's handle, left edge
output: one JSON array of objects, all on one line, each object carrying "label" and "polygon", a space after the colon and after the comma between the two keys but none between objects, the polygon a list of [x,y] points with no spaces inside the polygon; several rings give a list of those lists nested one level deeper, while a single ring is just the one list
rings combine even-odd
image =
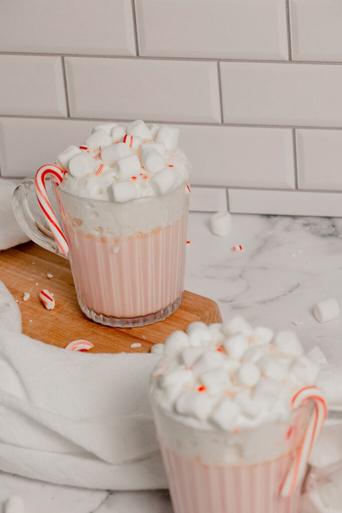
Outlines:
[{"label": "bit of white cloth behind the rear mug's handle, left edge", "polygon": [[27,242],[29,238],[16,222],[12,194],[17,181],[0,178],[0,250]]}]

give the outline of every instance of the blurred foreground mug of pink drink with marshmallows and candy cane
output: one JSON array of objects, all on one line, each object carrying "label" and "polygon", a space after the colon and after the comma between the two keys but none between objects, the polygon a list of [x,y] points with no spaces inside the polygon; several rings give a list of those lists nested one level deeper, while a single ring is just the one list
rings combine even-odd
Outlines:
[{"label": "blurred foreground mug of pink drink with marshmallows and candy cane", "polygon": [[239,316],[172,333],[150,402],[175,513],[299,513],[327,415],[319,370],[294,332]]}]

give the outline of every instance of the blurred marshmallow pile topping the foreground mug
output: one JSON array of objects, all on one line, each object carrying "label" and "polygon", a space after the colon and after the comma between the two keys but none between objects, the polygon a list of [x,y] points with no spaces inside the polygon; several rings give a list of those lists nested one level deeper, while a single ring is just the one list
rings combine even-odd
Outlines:
[{"label": "blurred marshmallow pile topping the foreground mug", "polygon": [[225,324],[195,322],[166,340],[152,377],[153,402],[178,420],[234,431],[289,420],[292,397],[314,385],[319,372],[293,331],[253,329],[239,316]]}]

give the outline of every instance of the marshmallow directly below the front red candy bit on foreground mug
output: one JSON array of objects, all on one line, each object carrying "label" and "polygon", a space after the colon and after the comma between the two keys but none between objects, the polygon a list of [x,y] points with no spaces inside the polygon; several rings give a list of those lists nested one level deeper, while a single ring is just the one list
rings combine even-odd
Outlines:
[{"label": "marshmallow directly below the front red candy bit on foreground mug", "polygon": [[175,410],[180,415],[205,420],[215,407],[216,400],[206,392],[187,390],[177,399]]}]

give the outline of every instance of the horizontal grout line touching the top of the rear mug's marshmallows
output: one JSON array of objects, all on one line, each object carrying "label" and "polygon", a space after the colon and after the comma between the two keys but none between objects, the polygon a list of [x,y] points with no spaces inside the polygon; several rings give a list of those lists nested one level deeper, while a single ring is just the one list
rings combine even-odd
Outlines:
[{"label": "horizontal grout line touching the top of the rear mug's marshmallows", "polygon": [[[51,121],[109,121],[109,117],[65,117],[65,116],[39,116],[33,114],[0,114],[0,119],[32,119],[32,120],[51,120]],[[118,123],[130,123],[132,119],[116,119]],[[203,127],[228,127],[228,128],[269,128],[269,129],[303,129],[303,130],[342,130],[340,127],[328,126],[305,126],[305,125],[265,125],[257,123],[210,123],[200,121],[170,121],[170,120],[145,120],[146,123],[160,123],[163,125],[188,125],[188,126],[203,126]]]}]

